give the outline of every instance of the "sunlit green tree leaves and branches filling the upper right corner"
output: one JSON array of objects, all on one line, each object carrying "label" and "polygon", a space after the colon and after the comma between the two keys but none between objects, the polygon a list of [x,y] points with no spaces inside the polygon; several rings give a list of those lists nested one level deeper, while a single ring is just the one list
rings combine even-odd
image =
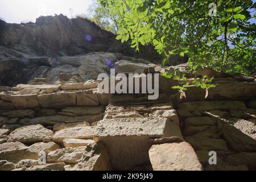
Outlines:
[{"label": "sunlit green tree leaves and branches filling the upper right corner", "polygon": [[[227,73],[256,74],[253,1],[99,2],[115,17],[119,27],[117,39],[122,42],[130,39],[131,47],[137,51],[141,45],[152,44],[163,55],[163,64],[170,55],[179,54],[188,55],[188,70],[193,73],[201,67],[210,67]],[[175,72],[165,76],[168,75],[175,77]],[[179,79],[182,78],[183,75],[179,75]],[[204,84],[200,86],[205,88]]]}]

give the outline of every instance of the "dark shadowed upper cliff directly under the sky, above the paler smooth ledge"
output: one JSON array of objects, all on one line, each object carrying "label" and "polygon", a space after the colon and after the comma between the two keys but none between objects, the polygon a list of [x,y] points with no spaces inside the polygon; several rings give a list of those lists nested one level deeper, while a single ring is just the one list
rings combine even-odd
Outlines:
[{"label": "dark shadowed upper cliff directly under the sky, above the paler smooth ledge", "polygon": [[156,62],[160,56],[147,46],[136,53],[90,20],[41,16],[35,23],[9,24],[0,20],[0,59],[30,56],[73,56],[89,52],[119,52]]}]

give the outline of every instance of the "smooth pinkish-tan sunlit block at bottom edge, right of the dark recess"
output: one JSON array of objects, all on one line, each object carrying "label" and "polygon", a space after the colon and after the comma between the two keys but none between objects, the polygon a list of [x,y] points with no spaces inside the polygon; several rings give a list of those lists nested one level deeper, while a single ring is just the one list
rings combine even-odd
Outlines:
[{"label": "smooth pinkish-tan sunlit block at bottom edge, right of the dark recess", "polygon": [[155,144],[149,150],[150,162],[154,171],[201,171],[197,155],[190,144]]}]

